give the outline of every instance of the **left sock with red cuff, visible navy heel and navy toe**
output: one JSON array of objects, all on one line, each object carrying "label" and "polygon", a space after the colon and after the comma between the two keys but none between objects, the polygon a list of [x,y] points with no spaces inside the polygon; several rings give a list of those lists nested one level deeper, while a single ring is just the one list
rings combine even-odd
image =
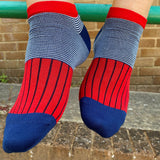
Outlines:
[{"label": "left sock with red cuff, visible navy heel and navy toe", "polygon": [[55,126],[68,101],[73,69],[90,50],[75,5],[37,2],[28,8],[28,17],[24,78],[4,131],[7,153],[31,149]]}]

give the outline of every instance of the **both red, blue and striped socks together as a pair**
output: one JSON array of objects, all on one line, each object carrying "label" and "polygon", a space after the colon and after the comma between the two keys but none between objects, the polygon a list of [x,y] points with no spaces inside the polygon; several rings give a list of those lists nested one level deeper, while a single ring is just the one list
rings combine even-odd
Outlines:
[{"label": "both red, blue and striped socks together as a pair", "polygon": [[[56,125],[67,105],[73,69],[90,52],[90,38],[75,5],[37,2],[28,8],[30,24],[24,78],[6,119],[3,148],[24,152]],[[121,13],[121,14],[119,14]],[[129,82],[146,19],[111,8],[94,43],[94,59],[80,87],[84,123],[111,137],[124,123]]]}]

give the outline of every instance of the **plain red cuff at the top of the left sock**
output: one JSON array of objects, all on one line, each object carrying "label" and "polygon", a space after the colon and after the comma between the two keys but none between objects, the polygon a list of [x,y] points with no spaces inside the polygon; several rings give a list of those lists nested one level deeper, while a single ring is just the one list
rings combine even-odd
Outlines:
[{"label": "plain red cuff at the top of the left sock", "polygon": [[69,2],[62,2],[62,1],[36,2],[27,9],[28,18],[30,18],[35,14],[43,13],[43,12],[60,13],[60,14],[65,14],[71,17],[78,16],[78,12],[74,4]]}]

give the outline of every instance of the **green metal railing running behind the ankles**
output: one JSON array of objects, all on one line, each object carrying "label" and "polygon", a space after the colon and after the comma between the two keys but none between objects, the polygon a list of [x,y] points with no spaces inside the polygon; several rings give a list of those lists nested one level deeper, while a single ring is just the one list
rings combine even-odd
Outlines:
[{"label": "green metal railing running behind the ankles", "polygon": [[[76,3],[76,8],[83,21],[104,22],[111,5]],[[26,2],[0,1],[0,18],[27,18]],[[152,6],[148,24],[160,24],[160,6]]]}]

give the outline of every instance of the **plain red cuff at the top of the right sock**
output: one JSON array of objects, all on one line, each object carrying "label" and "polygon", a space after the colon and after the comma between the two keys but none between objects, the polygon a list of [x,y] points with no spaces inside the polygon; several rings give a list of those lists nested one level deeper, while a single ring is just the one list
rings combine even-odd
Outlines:
[{"label": "plain red cuff at the top of the right sock", "polygon": [[107,18],[121,18],[121,19],[126,19],[135,23],[138,23],[141,25],[143,28],[145,28],[147,19],[143,17],[142,15],[125,9],[125,8],[118,8],[118,7],[111,7]]}]

